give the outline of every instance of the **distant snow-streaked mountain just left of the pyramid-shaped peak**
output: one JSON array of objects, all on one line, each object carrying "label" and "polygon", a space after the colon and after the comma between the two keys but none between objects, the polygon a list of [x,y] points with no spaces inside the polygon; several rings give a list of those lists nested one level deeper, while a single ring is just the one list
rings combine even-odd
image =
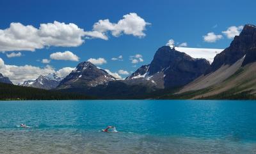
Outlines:
[{"label": "distant snow-streaked mountain just left of the pyramid-shaped peak", "polygon": [[54,89],[60,84],[61,78],[55,73],[48,75],[40,75],[36,80],[24,81],[19,86],[40,88],[40,89]]}]

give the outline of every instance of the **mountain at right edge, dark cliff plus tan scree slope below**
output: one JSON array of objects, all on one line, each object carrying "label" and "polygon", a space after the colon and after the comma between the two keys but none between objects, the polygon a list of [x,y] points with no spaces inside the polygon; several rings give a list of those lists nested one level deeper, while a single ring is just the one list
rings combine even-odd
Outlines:
[{"label": "mountain at right edge, dark cliff plus tan scree slope below", "polygon": [[218,54],[207,72],[179,93],[202,90],[194,98],[256,95],[256,26],[246,25],[230,47]]}]

